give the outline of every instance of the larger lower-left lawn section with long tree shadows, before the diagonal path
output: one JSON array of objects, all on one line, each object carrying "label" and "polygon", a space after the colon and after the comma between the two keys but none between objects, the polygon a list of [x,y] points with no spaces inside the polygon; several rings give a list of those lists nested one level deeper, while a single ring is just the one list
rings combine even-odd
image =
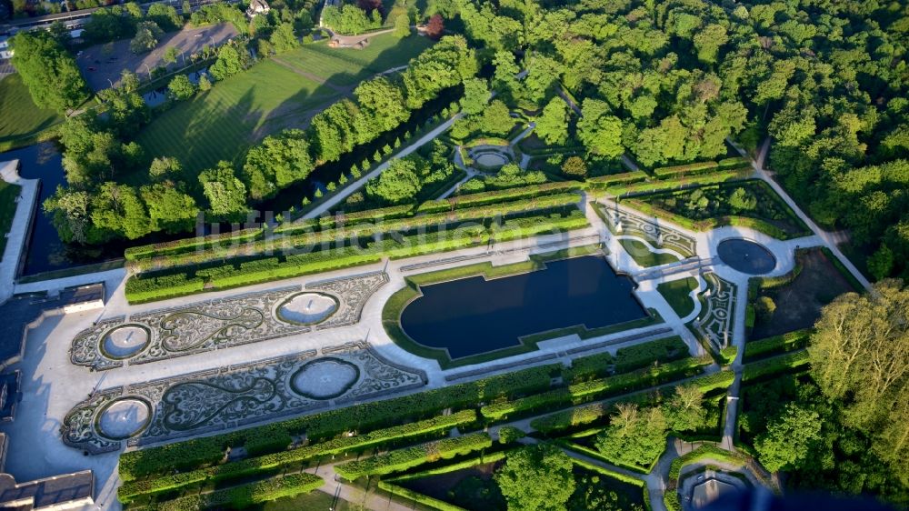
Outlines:
[{"label": "larger lower-left lawn section with long tree shadows, before the diagonal path", "polygon": [[[200,171],[218,160],[237,160],[271,133],[268,126],[260,129],[271,116],[302,113],[336,96],[325,85],[265,61],[176,105],[147,126],[137,141],[149,159],[175,156],[184,165],[186,180],[193,182]],[[144,175],[131,177],[135,184],[145,181]]]}]

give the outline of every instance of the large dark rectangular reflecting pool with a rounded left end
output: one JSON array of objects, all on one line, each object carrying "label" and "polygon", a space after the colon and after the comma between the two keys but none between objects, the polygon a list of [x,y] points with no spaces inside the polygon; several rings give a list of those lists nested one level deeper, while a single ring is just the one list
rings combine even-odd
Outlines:
[{"label": "large dark rectangular reflecting pool with a rounded left end", "polygon": [[522,275],[420,286],[423,296],[405,307],[401,326],[417,343],[461,358],[518,346],[530,334],[643,318],[633,286],[602,255],[586,255]]}]

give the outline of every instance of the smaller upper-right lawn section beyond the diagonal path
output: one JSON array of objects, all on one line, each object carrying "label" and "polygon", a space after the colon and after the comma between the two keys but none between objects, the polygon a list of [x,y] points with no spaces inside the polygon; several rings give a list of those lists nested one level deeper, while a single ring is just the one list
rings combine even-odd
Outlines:
[{"label": "smaller upper-right lawn section beyond the diagonal path", "polygon": [[330,48],[320,42],[304,45],[278,58],[334,85],[355,85],[376,73],[407,64],[432,44],[429,38],[417,35],[402,40],[392,34],[380,34],[362,50]]}]

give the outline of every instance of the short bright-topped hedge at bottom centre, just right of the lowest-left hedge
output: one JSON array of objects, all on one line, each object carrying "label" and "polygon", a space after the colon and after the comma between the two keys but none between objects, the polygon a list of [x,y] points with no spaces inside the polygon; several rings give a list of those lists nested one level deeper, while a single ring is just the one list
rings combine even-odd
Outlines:
[{"label": "short bright-topped hedge at bottom centre, just right of the lowest-left hedge", "polygon": [[335,472],[354,481],[362,476],[390,474],[414,466],[465,455],[493,446],[493,441],[486,433],[457,436],[430,442],[422,446],[406,447],[385,453],[384,455],[350,461],[335,466]]}]

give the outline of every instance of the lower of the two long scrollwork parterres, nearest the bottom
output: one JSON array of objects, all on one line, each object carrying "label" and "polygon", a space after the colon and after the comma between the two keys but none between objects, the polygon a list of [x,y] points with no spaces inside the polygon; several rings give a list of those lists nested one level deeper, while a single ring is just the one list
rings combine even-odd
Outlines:
[{"label": "lower of the two long scrollwork parterres, nearest the bottom", "polygon": [[[355,366],[355,371],[327,384],[320,377],[331,380],[331,372],[300,376],[306,373],[301,368],[319,362]],[[109,432],[105,434],[102,426],[104,414],[118,401],[148,404],[147,422],[136,426],[135,433],[124,440],[129,446],[139,446],[311,413],[333,403],[373,399],[425,386],[426,381],[423,371],[395,365],[365,342],[350,343],[326,356],[316,356],[315,350],[310,350],[107,389],[79,403],[67,415],[63,441],[90,454],[119,449],[123,441]],[[330,394],[325,385],[335,385],[340,390]]]}]

